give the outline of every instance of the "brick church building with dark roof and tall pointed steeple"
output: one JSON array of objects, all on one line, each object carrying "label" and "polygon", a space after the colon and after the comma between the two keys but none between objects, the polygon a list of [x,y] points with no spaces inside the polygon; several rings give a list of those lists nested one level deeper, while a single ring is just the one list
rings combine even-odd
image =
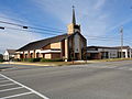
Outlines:
[{"label": "brick church building with dark roof and tall pointed steeple", "polygon": [[67,33],[31,42],[15,53],[15,58],[63,58],[65,61],[82,59],[87,40],[82,36],[80,25],[76,23],[75,9],[73,8],[73,21],[67,25]]}]

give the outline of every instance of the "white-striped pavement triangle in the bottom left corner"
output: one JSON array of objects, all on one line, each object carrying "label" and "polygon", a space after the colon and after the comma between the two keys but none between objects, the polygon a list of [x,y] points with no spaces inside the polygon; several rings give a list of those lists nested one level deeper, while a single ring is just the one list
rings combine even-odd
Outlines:
[{"label": "white-striped pavement triangle in the bottom left corner", "polygon": [[48,99],[44,95],[0,74],[0,99]]}]

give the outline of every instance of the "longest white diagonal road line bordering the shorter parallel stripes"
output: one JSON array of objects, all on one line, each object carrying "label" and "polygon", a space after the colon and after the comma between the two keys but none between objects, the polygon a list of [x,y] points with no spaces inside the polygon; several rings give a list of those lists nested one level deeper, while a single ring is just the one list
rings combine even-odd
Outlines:
[{"label": "longest white diagonal road line bordering the shorter parallel stripes", "polygon": [[[32,88],[30,88],[30,87],[28,87],[28,86],[25,86],[25,85],[23,85],[23,84],[20,84],[19,81],[15,81],[15,80],[13,80],[13,79],[11,79],[11,78],[9,78],[9,77],[7,77],[7,76],[2,75],[2,74],[0,74],[0,76],[2,76],[2,77],[4,77],[4,78],[7,78],[7,79],[9,79],[9,80],[13,81],[14,84],[18,84],[18,85],[20,85],[20,86],[24,87],[25,89],[31,90],[31,92],[33,92],[33,94],[35,94],[35,95],[37,95],[37,96],[42,97],[43,99],[50,99],[50,98],[47,98],[46,96],[44,96],[44,95],[42,95],[42,94],[40,94],[40,92],[35,91],[34,89],[32,89]],[[3,98],[3,99],[4,99],[4,98]]]}]

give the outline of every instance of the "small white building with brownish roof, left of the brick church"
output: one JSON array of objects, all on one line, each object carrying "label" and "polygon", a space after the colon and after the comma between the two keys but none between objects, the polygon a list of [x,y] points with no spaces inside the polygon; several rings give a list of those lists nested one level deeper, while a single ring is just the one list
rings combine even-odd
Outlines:
[{"label": "small white building with brownish roof, left of the brick church", "polygon": [[15,55],[15,50],[7,50],[3,53],[3,59],[4,61],[10,61],[10,59],[14,58],[14,55]]}]

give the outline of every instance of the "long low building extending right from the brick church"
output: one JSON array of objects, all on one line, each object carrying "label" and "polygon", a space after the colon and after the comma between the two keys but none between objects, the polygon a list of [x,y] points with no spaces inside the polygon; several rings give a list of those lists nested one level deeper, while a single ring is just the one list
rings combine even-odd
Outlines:
[{"label": "long low building extending right from the brick church", "polygon": [[[132,48],[130,46],[123,46],[123,58],[132,57]],[[121,46],[106,47],[106,46],[88,46],[87,57],[89,59],[101,58],[121,58]]]}]

